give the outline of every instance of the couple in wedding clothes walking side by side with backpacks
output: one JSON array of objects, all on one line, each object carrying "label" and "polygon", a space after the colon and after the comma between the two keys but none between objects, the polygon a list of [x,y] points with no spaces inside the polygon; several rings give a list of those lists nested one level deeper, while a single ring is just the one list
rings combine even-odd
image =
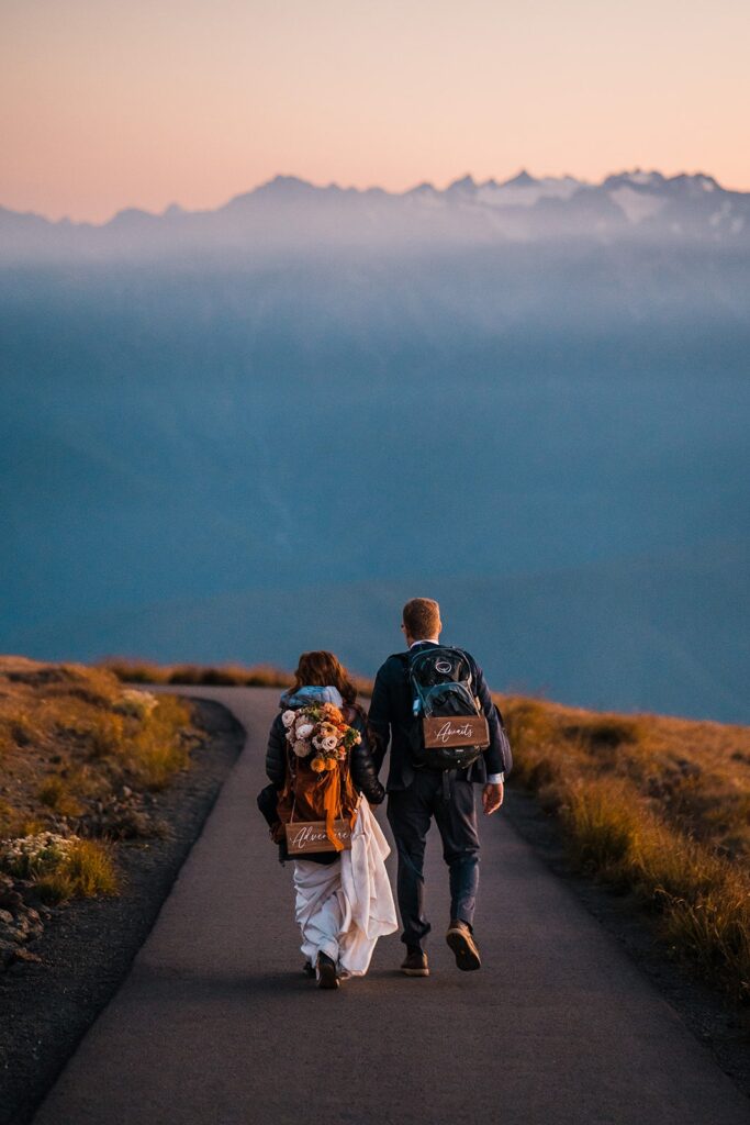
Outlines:
[{"label": "couple in wedding clothes walking side by side with backpacks", "polygon": [[[269,821],[282,857],[288,857],[286,842],[293,838],[288,825],[325,822],[319,838],[325,837],[329,849],[290,856],[305,971],[320,988],[337,988],[346,976],[363,975],[378,937],[397,929],[383,865],[389,847],[370,812],[370,806],[380,804],[386,794],[398,857],[397,897],[406,945],[401,971],[409,976],[430,975],[424,944],[431,926],[424,910],[423,870],[433,819],[450,872],[446,940],[459,969],[480,968],[473,935],[479,883],[473,786],[482,786],[485,813],[495,812],[503,803],[504,776],[512,759],[481,668],[464,650],[441,646],[441,629],[437,602],[425,597],[407,602],[401,621],[406,650],[390,656],[379,669],[369,714],[358,703],[356,688],[332,652],[305,652],[292,688],[281,696],[266,752],[269,789],[273,788],[275,804]],[[428,670],[425,698],[432,692],[432,699],[443,703],[436,713],[459,716],[452,726],[440,720],[439,748],[433,750],[425,750],[427,726],[418,719],[417,665],[423,678],[424,669]],[[461,676],[457,669],[463,669]],[[461,677],[463,686],[453,683]],[[481,752],[480,746],[445,746],[446,739],[461,741],[459,732],[468,712],[457,700],[467,696],[466,685],[470,685],[468,698],[475,718],[485,731]],[[422,713],[428,710],[427,703]],[[477,728],[469,724],[467,729],[476,737]],[[383,789],[379,773],[389,748]],[[346,838],[349,826],[351,836]]]}]

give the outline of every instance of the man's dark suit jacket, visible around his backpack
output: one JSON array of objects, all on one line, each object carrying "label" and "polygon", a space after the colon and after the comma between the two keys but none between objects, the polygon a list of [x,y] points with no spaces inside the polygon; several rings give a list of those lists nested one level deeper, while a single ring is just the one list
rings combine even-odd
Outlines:
[{"label": "man's dark suit jacket, visible around his backpack", "polygon": [[[434,647],[432,641],[421,645]],[[466,651],[462,649],[461,651]],[[467,771],[470,781],[485,784],[487,775],[509,773],[512,758],[507,736],[501,729],[501,717],[493,703],[481,668],[473,657],[466,652],[473,676],[473,693],[479,698],[482,712],[489,726],[490,742],[484,754]],[[409,691],[408,665],[405,652],[389,656],[376,676],[368,721],[373,741],[373,757],[378,772],[390,740],[390,770],[388,792],[407,789],[414,781],[415,767],[409,749],[409,727],[413,720],[412,693]]]}]

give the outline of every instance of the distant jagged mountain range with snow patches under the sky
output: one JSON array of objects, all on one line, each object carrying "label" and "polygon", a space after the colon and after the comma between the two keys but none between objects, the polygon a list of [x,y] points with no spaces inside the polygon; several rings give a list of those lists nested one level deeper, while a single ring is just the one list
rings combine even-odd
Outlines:
[{"label": "distant jagged mountain range with snow patches under the sky", "polygon": [[156,215],[128,208],[101,225],[51,222],[0,207],[0,260],[581,237],[748,245],[750,192],[726,190],[703,173],[665,177],[640,169],[598,184],[570,176],[536,179],[523,171],[501,183],[467,176],[444,190],[422,183],[401,194],[316,187],[278,176],[215,210],[189,212],[173,204]]}]

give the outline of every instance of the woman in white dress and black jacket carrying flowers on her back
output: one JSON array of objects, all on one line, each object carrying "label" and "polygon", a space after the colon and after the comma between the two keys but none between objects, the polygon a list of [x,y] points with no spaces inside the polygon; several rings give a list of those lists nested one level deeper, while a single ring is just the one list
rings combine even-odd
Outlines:
[{"label": "woman in white dress and black jacket carrying flowers on her back", "polygon": [[[277,840],[292,821],[325,824],[327,849],[290,858],[305,972],[319,988],[338,988],[364,975],[378,937],[398,924],[383,863],[390,848],[369,808],[385,790],[356,688],[333,652],[300,656],[271,726],[265,772],[278,793]],[[350,846],[334,828],[342,819]]]}]

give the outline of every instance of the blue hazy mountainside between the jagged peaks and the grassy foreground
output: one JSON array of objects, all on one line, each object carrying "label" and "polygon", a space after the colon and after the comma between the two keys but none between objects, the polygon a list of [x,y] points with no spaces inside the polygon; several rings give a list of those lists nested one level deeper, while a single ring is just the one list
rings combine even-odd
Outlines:
[{"label": "blue hazy mountainside between the jagged peaks and the grassy foreground", "polygon": [[0,646],[372,674],[440,597],[494,686],[750,721],[750,255],[181,246],[0,266]]}]

